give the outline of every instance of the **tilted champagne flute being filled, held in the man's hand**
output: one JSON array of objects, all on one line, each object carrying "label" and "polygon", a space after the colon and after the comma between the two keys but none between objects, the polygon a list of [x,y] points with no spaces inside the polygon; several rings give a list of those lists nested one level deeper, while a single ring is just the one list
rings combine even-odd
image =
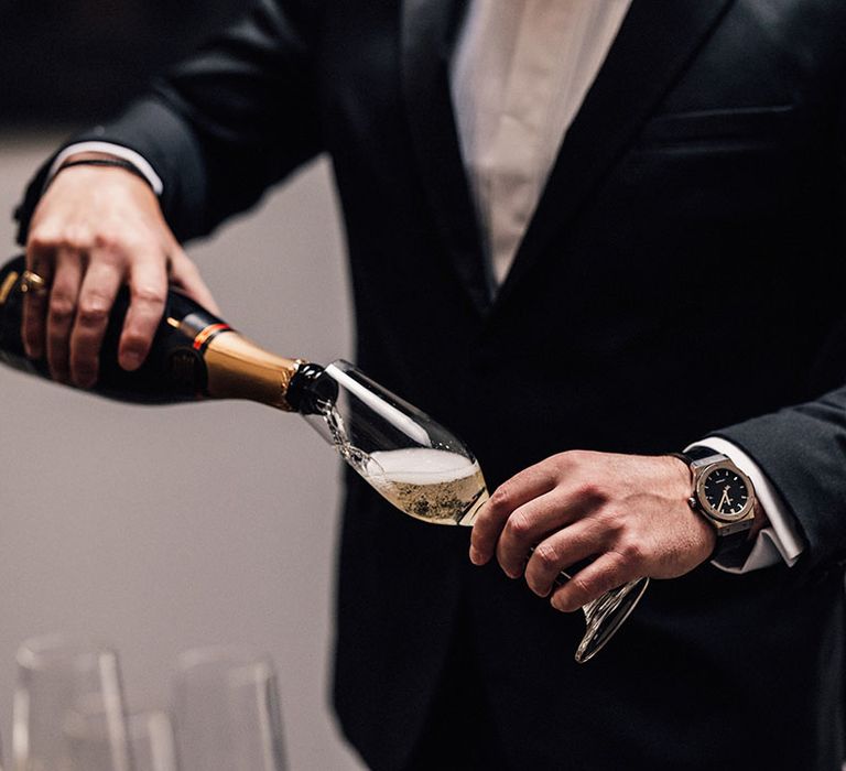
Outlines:
[{"label": "tilted champagne flute being filled, held in the man's hand", "polygon": [[[380,495],[424,522],[471,526],[488,500],[473,453],[452,432],[338,360],[316,380],[316,431]],[[562,572],[556,583],[570,580]],[[583,607],[586,632],[575,659],[592,659],[640,600],[649,578],[637,578]]]}]

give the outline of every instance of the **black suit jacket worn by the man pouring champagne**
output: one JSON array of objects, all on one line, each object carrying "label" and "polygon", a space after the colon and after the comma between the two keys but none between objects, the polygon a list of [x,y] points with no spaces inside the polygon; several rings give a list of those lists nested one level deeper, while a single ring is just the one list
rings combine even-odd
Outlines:
[{"label": "black suit jacket worn by the man pouring champagne", "polygon": [[577,666],[577,615],[350,477],[344,730],[373,768],[401,767],[460,618],[513,768],[837,769],[846,3],[634,0],[496,300],[447,89],[462,12],[261,0],[91,135],[153,163],[181,238],[328,152],[358,362],[463,435],[491,487],[568,448],[718,434],[779,489],[806,551],[653,583]]}]

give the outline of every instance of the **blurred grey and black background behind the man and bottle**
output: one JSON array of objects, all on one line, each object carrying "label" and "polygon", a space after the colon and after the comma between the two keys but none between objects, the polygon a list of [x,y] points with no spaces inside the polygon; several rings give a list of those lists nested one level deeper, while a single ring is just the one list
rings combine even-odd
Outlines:
[{"label": "blurred grey and black background behind the man and bottle", "polygon": [[[0,258],[28,177],[242,3],[0,2]],[[165,31],[167,34],[165,34]],[[283,355],[349,357],[328,165],[189,253],[237,328]],[[257,404],[111,403],[0,369],[0,736],[21,640],[115,644],[130,707],[166,707],[177,654],[242,643],[276,662],[291,768],[360,769],[329,707],[340,468]]]}]

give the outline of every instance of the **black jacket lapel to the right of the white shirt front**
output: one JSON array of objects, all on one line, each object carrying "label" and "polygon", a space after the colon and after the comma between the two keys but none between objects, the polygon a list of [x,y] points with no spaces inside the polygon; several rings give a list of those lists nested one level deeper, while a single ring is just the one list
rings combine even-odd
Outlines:
[{"label": "black jacket lapel to the right of the white shirt front", "polygon": [[578,213],[731,1],[633,0],[562,143],[498,305]]}]

